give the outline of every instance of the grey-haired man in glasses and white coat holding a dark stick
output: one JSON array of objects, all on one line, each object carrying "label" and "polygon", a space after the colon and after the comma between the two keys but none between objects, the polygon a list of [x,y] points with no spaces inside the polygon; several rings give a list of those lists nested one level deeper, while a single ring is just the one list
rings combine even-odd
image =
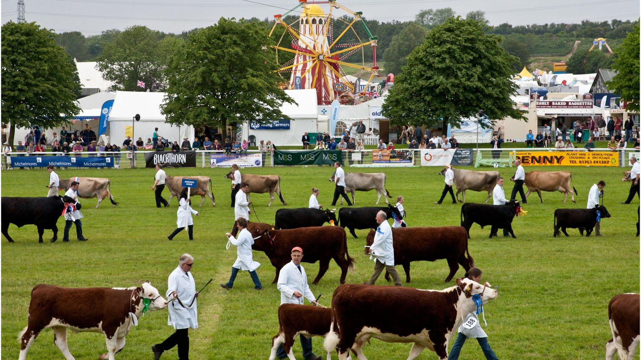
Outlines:
[{"label": "grey-haired man in glasses and white coat holding a dark stick", "polygon": [[[190,254],[182,254],[178,261],[178,267],[169,274],[167,280],[167,299],[170,295],[174,299],[169,303],[169,318],[167,325],[173,326],[176,332],[162,343],[151,345],[151,351],[154,353],[154,360],[160,359],[162,353],[178,345],[178,359],[189,360],[189,336],[188,330],[197,329],[198,316],[196,308],[196,282],[192,276],[191,270],[194,266],[194,257]],[[176,300],[178,296],[188,306],[192,299],[194,304],[191,308],[181,306]]]}]

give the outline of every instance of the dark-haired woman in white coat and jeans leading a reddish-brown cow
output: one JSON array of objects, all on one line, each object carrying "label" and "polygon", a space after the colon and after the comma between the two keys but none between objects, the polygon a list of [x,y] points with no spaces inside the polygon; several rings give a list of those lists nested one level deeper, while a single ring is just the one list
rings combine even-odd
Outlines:
[{"label": "dark-haired woman in white coat and jeans leading a reddish-brown cow", "polygon": [[[236,225],[238,227],[238,239],[234,238],[231,234],[227,233],[229,242],[237,246],[237,258],[234,265],[231,265],[231,276],[229,281],[226,284],[221,284],[223,289],[231,289],[234,286],[234,281],[236,280],[236,275],[240,270],[247,270],[249,276],[251,276],[252,281],[254,282],[254,290],[263,290],[263,285],[258,279],[258,274],[256,274],[256,268],[260,266],[260,263],[254,261],[253,254],[251,252],[251,245],[254,245],[254,239],[251,237],[251,233],[247,230],[247,219],[244,217],[238,217],[236,219]],[[229,249],[229,244],[228,244]]]}]

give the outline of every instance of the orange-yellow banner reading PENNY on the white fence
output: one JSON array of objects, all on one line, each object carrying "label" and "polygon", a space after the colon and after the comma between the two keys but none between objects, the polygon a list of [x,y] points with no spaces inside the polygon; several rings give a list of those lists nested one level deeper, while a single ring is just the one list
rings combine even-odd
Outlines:
[{"label": "orange-yellow banner reading PENNY on the white fence", "polygon": [[619,166],[617,151],[517,151],[522,165]]}]

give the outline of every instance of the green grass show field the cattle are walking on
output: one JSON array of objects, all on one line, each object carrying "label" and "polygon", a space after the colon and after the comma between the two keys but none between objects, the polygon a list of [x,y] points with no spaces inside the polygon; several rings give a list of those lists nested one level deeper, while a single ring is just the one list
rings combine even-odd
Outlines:
[{"label": "green grass show field the cattle are walking on", "polygon": [[[350,171],[349,167],[346,171]],[[358,171],[387,173],[387,189],[395,197],[404,195],[406,221],[410,226],[460,224],[460,204],[445,200],[437,206],[443,187],[440,168],[372,168]],[[482,170],[490,170],[484,168]],[[526,170],[559,170],[530,167]],[[544,193],[541,204],[536,194],[524,207],[525,217],[515,218],[513,228],[517,239],[488,239],[489,229],[474,225],[469,243],[470,254],[483,269],[483,280],[499,286],[499,297],[485,307],[490,344],[501,359],[600,359],[604,345],[611,338],[608,326],[608,301],[613,295],[639,291],[639,239],[635,236],[638,199],[631,205],[619,204],[628,193],[629,183],[622,184],[622,168],[572,167],[578,204],[562,204],[560,193]],[[501,169],[510,177],[513,169]],[[198,299],[199,324],[190,331],[192,359],[266,359],[271,338],[278,331],[279,293],[271,284],[274,268],[263,253],[254,252],[254,260],[262,263],[258,275],[263,291],[254,291],[247,272],[238,275],[233,290],[224,291],[219,283],[228,280],[236,252],[225,250],[224,233],[233,224],[229,208],[230,187],[223,179],[225,169],[168,169],[169,175],[206,175],[213,179],[216,208],[205,202],[200,217],[194,217],[195,241],[188,241],[185,232],[173,241],[167,235],[176,227],[176,200],[169,208],[157,209],[154,204],[153,169],[63,170],[60,177],[109,177],[112,194],[119,206],[103,202],[94,209],[96,199],[84,200],[83,228],[89,241],[69,243],[57,241],[38,244],[33,225],[17,229],[11,225],[15,243],[2,243],[2,354],[17,358],[16,336],[27,324],[29,292],[40,282],[60,286],[135,286],[145,280],[165,293],[167,276],[178,265],[183,252],[195,258],[193,274],[197,287],[208,279],[213,283]],[[245,170],[253,174],[279,174],[281,189],[288,207],[306,207],[312,186],[320,188],[319,202],[331,203],[333,185],[327,181],[330,167],[286,167]],[[4,196],[46,195],[47,173],[44,170],[3,171],[1,190]],[[605,236],[582,238],[577,230],[569,230],[570,238],[553,238],[553,211],[556,208],[585,208],[587,192],[599,179],[606,186],[605,204],[612,218],[603,220]],[[506,181],[506,193],[512,183]],[[482,202],[486,193],[468,192],[467,200]],[[165,197],[169,196],[165,190]],[[199,197],[196,198],[198,200]],[[267,194],[251,196],[262,222],[273,224],[274,213],[283,206],[274,201],[267,208]],[[373,206],[376,194],[356,194],[357,206]],[[390,199],[392,200],[392,199]],[[251,215],[251,220],[256,217]],[[62,238],[63,219],[58,220]],[[72,229],[74,238],[74,229]],[[363,254],[365,234],[357,231],[358,239],[348,233],[349,254],[356,258],[356,274],[349,273],[347,282],[369,278],[374,264]],[[51,231],[46,231],[46,239]],[[314,277],[318,263],[303,264],[308,277]],[[401,266],[398,267],[403,277]],[[443,289],[448,273],[445,260],[412,264],[412,283],[416,288]],[[340,272],[331,263],[320,283],[312,286],[322,293],[322,304],[329,305],[331,294],[338,286]],[[456,274],[463,275],[461,268]],[[385,284],[381,277],[379,285]],[[405,285],[405,284],[404,284]],[[140,319],[132,329],[127,345],[117,359],[151,359],[149,347],[164,340],[172,332],[167,326],[167,312],[155,311]],[[100,334],[69,333],[69,348],[76,359],[96,359],[106,351]],[[454,340],[454,339],[453,339]],[[451,342],[452,343],[452,342]],[[314,338],[316,354],[322,355],[322,339]],[[411,345],[383,343],[372,340],[363,352],[371,360],[405,359]],[[294,345],[294,354],[302,359],[301,348]],[[336,355],[334,354],[334,359]],[[43,331],[29,351],[28,359],[62,359],[53,343],[53,332]],[[462,359],[481,359],[483,354],[476,341],[463,347]],[[166,352],[162,359],[176,359],[176,350]],[[420,359],[437,359],[426,350]]]}]

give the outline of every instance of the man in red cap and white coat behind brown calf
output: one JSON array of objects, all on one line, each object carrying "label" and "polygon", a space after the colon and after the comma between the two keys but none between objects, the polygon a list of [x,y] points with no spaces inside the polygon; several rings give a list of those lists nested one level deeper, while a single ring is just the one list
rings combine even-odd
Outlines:
[{"label": "man in red cap and white coat behind brown calf", "polygon": [[[307,284],[307,274],[305,269],[301,266],[303,259],[303,249],[294,247],[292,249],[292,261],[285,264],[281,268],[278,275],[278,291],[281,292],[281,305],[282,304],[303,304],[303,299],[307,299],[314,305],[317,305],[314,294]],[[312,338],[305,338],[303,334],[300,336],[301,345],[303,346],[303,357],[305,360],[321,360],[322,357],[315,355],[312,352]],[[281,344],[276,350],[276,356],[279,359],[285,359],[287,354],[283,350]]]}]

